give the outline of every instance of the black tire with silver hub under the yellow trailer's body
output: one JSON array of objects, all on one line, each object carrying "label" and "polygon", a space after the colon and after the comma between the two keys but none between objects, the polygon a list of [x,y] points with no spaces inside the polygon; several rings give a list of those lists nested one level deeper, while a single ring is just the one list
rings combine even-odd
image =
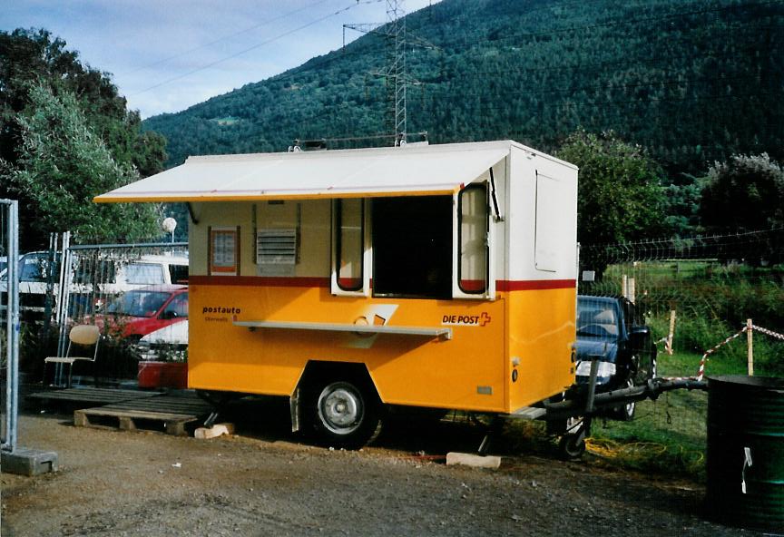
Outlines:
[{"label": "black tire with silver hub under the yellow trailer's body", "polygon": [[306,391],[306,419],[319,444],[358,449],[380,432],[375,389],[354,379],[315,382]]}]

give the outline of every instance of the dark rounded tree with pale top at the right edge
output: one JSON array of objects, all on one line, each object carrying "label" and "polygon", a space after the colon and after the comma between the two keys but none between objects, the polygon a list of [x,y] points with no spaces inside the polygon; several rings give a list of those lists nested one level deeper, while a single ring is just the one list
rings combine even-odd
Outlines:
[{"label": "dark rounded tree with pale top at the right edge", "polygon": [[784,171],[767,153],[715,162],[702,181],[700,215],[707,229],[784,227]]}]

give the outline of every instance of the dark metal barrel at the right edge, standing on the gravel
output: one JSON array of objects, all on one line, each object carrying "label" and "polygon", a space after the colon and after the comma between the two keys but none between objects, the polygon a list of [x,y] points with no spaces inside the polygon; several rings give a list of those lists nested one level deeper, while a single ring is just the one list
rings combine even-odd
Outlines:
[{"label": "dark metal barrel at the right edge, standing on the gravel", "polygon": [[784,533],[784,378],[708,378],[708,491],[715,520]]}]

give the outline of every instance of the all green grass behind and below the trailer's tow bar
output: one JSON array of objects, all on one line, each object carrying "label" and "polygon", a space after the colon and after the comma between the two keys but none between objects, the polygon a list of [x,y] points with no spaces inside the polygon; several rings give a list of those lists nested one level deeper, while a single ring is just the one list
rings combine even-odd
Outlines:
[{"label": "all green grass behind and below the trailer's tow bar", "polygon": [[[659,353],[660,376],[696,376],[702,353],[754,324],[784,332],[784,267],[755,268],[709,260],[644,261],[610,265],[602,280],[583,285],[585,294],[618,293],[622,276],[635,278],[637,306],[655,338],[677,311],[675,353]],[[754,374],[784,376],[784,342],[754,333]],[[747,373],[746,334],[711,354],[706,376]],[[632,422],[597,419],[588,449],[616,466],[657,474],[705,475],[708,394],[675,390],[638,403]]]}]

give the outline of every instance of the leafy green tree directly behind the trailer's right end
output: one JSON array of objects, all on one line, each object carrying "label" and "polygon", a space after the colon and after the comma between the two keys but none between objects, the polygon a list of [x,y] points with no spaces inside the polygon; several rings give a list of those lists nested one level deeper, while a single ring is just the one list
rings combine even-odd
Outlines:
[{"label": "leafy green tree directly behind the trailer's right end", "polygon": [[556,154],[580,168],[581,243],[615,243],[662,233],[662,171],[640,146],[623,142],[613,132],[579,130]]}]

